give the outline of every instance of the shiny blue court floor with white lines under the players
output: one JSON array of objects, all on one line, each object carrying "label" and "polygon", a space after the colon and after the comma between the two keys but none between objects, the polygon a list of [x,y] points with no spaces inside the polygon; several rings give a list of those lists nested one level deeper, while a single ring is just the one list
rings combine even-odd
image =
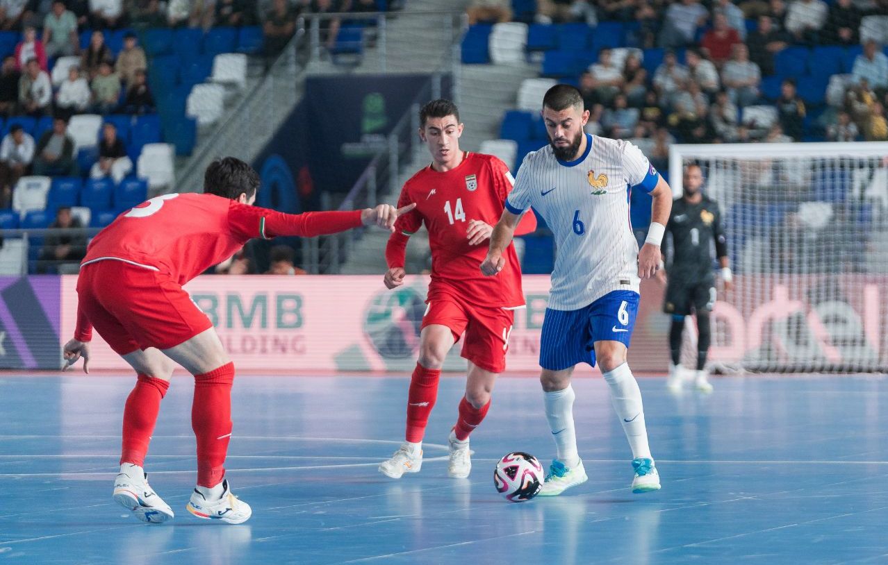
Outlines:
[{"label": "shiny blue court floor with white lines under the players", "polygon": [[721,378],[711,396],[640,379],[659,492],[633,495],[630,452],[600,378],[575,380],[588,483],[513,504],[492,470],[554,452],[535,379],[497,383],[472,476],[447,477],[463,380],[441,382],[422,472],[377,472],[403,433],[406,378],[242,377],[228,477],[239,526],[185,511],[191,379],[163,402],[149,479],[174,521],[111,500],[123,377],[0,375],[0,565],[43,563],[884,563],[888,379]]}]

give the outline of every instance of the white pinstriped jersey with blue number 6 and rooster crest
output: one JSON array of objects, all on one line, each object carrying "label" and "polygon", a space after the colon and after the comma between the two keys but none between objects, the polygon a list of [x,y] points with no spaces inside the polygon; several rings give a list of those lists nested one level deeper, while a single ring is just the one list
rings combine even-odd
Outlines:
[{"label": "white pinstriped jersey with blue number 6 and rooster crest", "polygon": [[615,290],[638,292],[638,243],[629,218],[632,187],[652,192],[659,175],[635,145],[586,134],[586,152],[559,161],[551,145],[528,153],[506,200],[533,207],[555,234],[549,308],[579,310]]}]

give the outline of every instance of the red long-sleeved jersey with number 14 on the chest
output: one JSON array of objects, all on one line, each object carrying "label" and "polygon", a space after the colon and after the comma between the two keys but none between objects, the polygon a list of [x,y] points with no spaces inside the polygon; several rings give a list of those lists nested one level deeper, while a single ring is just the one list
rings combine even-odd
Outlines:
[{"label": "red long-sleeved jersey with number 14 on the chest", "polygon": [[[521,269],[515,247],[503,253],[506,264],[496,277],[485,277],[480,264],[488,255],[488,240],[469,245],[469,222],[480,220],[496,225],[503,202],[514,180],[509,168],[493,155],[465,153],[456,169],[437,171],[431,166],[411,177],[400,191],[398,208],[416,202],[416,208],[398,217],[385,258],[389,268],[404,266],[407,239],[425,224],[432,248],[432,284],[438,292],[481,306],[514,308],[524,304]],[[517,234],[534,231],[533,214],[526,217]]]}]

